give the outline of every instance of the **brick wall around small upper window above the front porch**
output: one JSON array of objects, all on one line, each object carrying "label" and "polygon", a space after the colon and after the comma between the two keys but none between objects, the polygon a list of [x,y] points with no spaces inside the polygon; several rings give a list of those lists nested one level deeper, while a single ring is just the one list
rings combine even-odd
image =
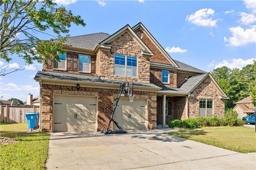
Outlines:
[{"label": "brick wall around small upper window above the front porch", "polygon": [[155,84],[159,87],[174,87],[177,88],[177,72],[169,70],[169,72],[173,73],[173,83],[172,84],[164,84],[162,83],[162,80],[159,78],[159,71],[167,70],[167,69],[156,69],[156,68],[150,68],[150,70],[154,71],[154,80],[150,81],[150,83]]}]

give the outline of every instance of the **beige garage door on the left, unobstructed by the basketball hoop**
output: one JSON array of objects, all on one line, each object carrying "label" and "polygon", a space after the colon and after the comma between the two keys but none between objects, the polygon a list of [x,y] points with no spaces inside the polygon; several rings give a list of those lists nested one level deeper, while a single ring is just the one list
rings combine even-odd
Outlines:
[{"label": "beige garage door on the left, unobstructed by the basketball hoop", "polygon": [[97,97],[54,96],[53,131],[95,131]]}]

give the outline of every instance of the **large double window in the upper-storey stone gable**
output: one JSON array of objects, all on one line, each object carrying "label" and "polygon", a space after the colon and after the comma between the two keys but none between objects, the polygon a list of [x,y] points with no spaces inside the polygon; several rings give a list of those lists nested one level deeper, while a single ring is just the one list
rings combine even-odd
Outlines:
[{"label": "large double window in the upper-storey stone gable", "polygon": [[137,57],[115,54],[115,75],[137,77]]}]

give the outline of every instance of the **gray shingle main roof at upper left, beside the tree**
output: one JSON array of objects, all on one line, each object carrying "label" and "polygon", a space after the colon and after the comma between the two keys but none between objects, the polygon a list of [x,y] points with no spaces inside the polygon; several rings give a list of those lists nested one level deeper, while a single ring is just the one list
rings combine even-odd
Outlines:
[{"label": "gray shingle main roof at upper left, beside the tree", "polygon": [[77,48],[93,49],[95,45],[108,38],[108,33],[91,33],[82,36],[75,36],[67,38],[65,45],[73,46]]}]

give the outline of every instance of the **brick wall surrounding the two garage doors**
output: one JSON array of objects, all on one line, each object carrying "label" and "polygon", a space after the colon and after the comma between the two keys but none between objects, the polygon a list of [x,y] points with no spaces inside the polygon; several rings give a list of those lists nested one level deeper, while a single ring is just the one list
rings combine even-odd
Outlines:
[{"label": "brick wall surrounding the two garage doors", "polygon": [[[113,101],[117,95],[117,89],[101,89],[81,87],[77,91],[76,86],[62,86],[42,84],[42,130],[53,132],[53,95],[84,95],[98,97],[98,131],[106,130]],[[156,128],[156,93],[149,91],[134,91],[136,97],[148,99],[148,129]],[[113,124],[110,128],[113,128]]]}]

